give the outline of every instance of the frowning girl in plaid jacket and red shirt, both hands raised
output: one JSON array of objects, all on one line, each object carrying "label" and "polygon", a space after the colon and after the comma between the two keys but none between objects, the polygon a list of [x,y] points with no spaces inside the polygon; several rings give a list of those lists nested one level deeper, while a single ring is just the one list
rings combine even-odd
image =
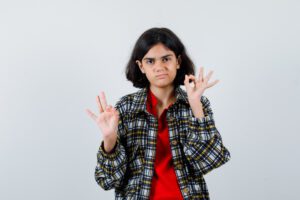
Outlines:
[{"label": "frowning girl in plaid jacket and red shirt, both hands raised", "polygon": [[204,77],[201,67],[195,77],[184,45],[167,28],[139,37],[126,77],[140,89],[115,107],[101,92],[99,115],[87,109],[103,134],[95,179],[104,190],[115,188],[116,199],[209,199],[203,175],[230,159],[203,96],[218,82],[209,83],[212,73]]}]

